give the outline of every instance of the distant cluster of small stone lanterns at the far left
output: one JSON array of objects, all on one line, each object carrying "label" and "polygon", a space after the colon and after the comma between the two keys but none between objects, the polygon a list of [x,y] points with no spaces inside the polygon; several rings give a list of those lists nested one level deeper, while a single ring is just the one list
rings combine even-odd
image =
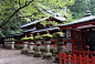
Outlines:
[{"label": "distant cluster of small stone lanterns at the far left", "polygon": [[6,49],[14,49],[14,38],[8,38],[8,39],[4,39],[4,47]]}]

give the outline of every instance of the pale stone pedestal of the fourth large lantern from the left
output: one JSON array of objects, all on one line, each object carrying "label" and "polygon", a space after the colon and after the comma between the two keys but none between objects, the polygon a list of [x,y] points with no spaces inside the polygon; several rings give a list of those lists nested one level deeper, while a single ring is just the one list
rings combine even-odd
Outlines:
[{"label": "pale stone pedestal of the fourth large lantern from the left", "polygon": [[51,58],[52,53],[50,53],[50,43],[51,41],[45,41],[45,53],[43,54],[43,58]]}]

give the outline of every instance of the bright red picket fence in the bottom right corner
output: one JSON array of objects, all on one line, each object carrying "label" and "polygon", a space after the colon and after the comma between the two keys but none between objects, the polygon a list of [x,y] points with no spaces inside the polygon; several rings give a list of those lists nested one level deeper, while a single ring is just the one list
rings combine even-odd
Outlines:
[{"label": "bright red picket fence in the bottom right corner", "polygon": [[73,54],[72,56],[71,54],[60,53],[60,64],[95,64],[95,56],[89,58],[88,55],[83,57],[81,54],[78,56]]}]

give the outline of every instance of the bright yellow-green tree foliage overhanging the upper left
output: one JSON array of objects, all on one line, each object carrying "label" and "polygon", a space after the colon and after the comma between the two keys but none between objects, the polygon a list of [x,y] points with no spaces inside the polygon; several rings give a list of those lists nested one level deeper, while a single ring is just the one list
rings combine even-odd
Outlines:
[{"label": "bright yellow-green tree foliage overhanging the upper left", "polygon": [[1,35],[19,33],[22,31],[19,25],[48,17],[39,10],[38,3],[63,12],[62,9],[73,4],[74,0],[0,0]]}]

